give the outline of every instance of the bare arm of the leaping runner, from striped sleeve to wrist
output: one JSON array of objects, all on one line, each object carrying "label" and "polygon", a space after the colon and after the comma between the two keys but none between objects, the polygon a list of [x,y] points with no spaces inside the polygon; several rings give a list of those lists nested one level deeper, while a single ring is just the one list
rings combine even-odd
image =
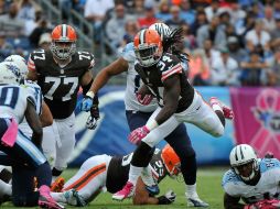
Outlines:
[{"label": "bare arm of the leaping runner, from striped sleeve to wrist", "polygon": [[180,77],[177,74],[174,74],[166,78],[163,81],[164,96],[163,96],[163,108],[155,117],[157,124],[162,124],[166,121],[172,114],[176,112],[179,97],[181,92]]}]

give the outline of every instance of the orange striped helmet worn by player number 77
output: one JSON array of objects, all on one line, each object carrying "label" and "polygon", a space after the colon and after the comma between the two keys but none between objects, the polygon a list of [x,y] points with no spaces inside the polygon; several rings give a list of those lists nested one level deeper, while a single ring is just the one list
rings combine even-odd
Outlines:
[{"label": "orange striped helmet worn by player number 77", "polygon": [[60,24],[52,32],[51,51],[58,59],[67,59],[76,52],[77,34],[74,28]]}]

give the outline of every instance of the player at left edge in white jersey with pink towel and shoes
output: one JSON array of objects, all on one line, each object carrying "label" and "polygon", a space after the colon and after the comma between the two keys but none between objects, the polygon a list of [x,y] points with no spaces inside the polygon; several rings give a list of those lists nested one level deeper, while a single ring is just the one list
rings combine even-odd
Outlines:
[{"label": "player at left edge in white jersey with pink towel and shoes", "polygon": [[[0,155],[0,162],[8,162],[13,170],[17,169],[12,176],[13,205],[62,208],[50,196],[51,167],[37,148],[42,142],[42,127],[35,111],[35,94],[19,86],[22,78],[14,63],[0,63],[0,151],[4,153]],[[33,131],[31,139],[18,128],[24,117]],[[39,191],[31,189],[33,177],[25,178],[24,173],[30,170],[37,178]]]}]

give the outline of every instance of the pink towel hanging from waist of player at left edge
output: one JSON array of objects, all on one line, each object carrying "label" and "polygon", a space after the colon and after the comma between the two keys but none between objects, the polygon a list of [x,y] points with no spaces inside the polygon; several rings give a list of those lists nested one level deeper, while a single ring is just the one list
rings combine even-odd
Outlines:
[{"label": "pink towel hanging from waist of player at left edge", "polygon": [[14,119],[12,119],[7,131],[2,136],[2,144],[12,147],[17,141],[19,125]]}]

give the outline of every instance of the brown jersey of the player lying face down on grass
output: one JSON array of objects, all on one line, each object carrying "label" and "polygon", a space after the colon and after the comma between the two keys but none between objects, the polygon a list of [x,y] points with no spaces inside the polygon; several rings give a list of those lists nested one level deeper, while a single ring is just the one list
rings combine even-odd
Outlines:
[{"label": "brown jersey of the player lying face down on grass", "polygon": [[[133,153],[123,157],[114,156],[108,166],[106,187],[109,193],[117,193],[128,182],[129,166]],[[160,183],[166,176],[166,168],[161,160],[161,151],[155,150],[150,162],[153,177]]]}]

